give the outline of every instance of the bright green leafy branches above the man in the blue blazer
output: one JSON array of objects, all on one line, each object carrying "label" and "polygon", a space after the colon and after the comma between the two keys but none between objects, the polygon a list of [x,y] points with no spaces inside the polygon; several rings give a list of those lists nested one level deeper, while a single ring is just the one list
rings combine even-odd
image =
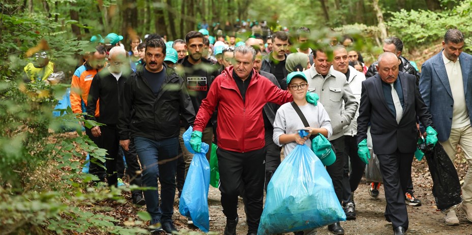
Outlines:
[{"label": "bright green leafy branches above the man in the blue blazer", "polygon": [[429,10],[391,12],[387,22],[391,35],[402,39],[406,48],[437,43],[449,28],[458,28],[464,33],[466,51],[472,49],[472,1],[463,1],[451,10],[432,12]]}]

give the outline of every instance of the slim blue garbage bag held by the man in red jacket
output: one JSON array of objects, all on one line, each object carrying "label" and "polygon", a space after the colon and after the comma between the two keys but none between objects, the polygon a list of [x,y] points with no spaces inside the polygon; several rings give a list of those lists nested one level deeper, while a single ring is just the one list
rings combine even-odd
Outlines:
[{"label": "slim blue garbage bag held by the man in red jacket", "polygon": [[210,163],[206,160],[208,144],[201,143],[201,151],[195,153],[190,147],[190,136],[193,128],[185,131],[182,138],[185,147],[193,153],[184,188],[179,202],[179,212],[186,217],[191,217],[193,224],[203,232],[210,230],[210,217],[208,212],[208,189],[210,187]]}]

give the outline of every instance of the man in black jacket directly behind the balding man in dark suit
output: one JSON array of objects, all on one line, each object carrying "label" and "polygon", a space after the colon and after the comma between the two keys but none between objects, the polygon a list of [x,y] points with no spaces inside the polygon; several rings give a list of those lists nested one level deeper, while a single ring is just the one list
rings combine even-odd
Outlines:
[{"label": "man in black jacket directly behind the balding man in dark suit", "polygon": [[[401,55],[403,50],[403,42],[397,37],[390,37],[384,40],[384,52],[392,52],[397,55],[398,61],[400,64],[398,65],[398,69],[401,72],[411,74],[416,77],[417,82],[420,81],[420,72],[418,72],[410,62]],[[378,65],[378,61],[373,62],[369,69],[367,69],[366,78],[370,78],[376,74],[378,74],[376,66]]]}]

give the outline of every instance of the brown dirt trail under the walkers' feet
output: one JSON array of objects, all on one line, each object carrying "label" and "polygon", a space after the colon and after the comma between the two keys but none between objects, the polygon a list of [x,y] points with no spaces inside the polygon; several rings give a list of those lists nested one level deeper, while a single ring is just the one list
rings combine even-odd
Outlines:
[{"label": "brown dirt trail under the walkers' feet", "polygon": [[[418,162],[415,160],[413,184],[415,186],[415,195],[421,199],[423,205],[420,207],[408,208],[409,228],[407,234],[471,234],[472,222],[467,221],[464,214],[457,211],[460,225],[448,226],[443,222],[443,214],[436,210],[434,197],[431,193],[430,185],[432,183],[429,174],[427,174],[426,161]],[[463,171],[459,171],[459,176],[463,178]],[[419,186],[420,185],[420,186]],[[429,187],[428,187],[429,186]],[[223,234],[226,218],[222,213],[220,203],[220,192],[218,189],[210,186],[208,195],[210,205],[210,231]],[[377,199],[371,199],[368,194],[368,185],[365,180],[361,182],[355,193],[357,219],[342,222],[345,234],[393,234],[391,223],[384,219],[384,210],[386,206],[384,187],[381,186],[380,194]],[[239,224],[237,233],[247,234],[246,215],[243,209],[243,202],[240,198],[238,207]],[[198,229],[187,225],[185,217],[179,214],[178,204],[175,207],[174,221],[179,229],[193,230]],[[290,234],[290,233],[286,233]],[[291,233],[293,234],[293,233]],[[331,234],[326,227],[318,228],[318,234]]]}]

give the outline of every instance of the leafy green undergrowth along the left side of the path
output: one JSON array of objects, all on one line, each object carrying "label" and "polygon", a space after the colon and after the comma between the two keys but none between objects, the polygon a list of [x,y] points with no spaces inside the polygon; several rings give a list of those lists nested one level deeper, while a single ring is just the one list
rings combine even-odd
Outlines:
[{"label": "leafy green undergrowth along the left side of the path", "polygon": [[[106,215],[112,208],[97,206],[125,200],[122,189],[91,187],[98,178],[81,173],[84,152],[95,156],[98,164],[105,162],[105,150],[79,125],[98,123],[73,114],[70,108],[61,110],[61,117],[52,116],[69,85],[23,80],[24,66],[40,51],[47,51],[58,71],[75,68],[74,56],[90,50],[87,41],[77,41],[69,31],[78,22],[55,20],[41,11],[18,12],[20,3],[10,2],[3,3],[0,18],[1,233],[148,233],[140,228],[144,221],[126,225]],[[76,133],[63,133],[64,129]],[[149,218],[145,212],[139,216]]]}]

